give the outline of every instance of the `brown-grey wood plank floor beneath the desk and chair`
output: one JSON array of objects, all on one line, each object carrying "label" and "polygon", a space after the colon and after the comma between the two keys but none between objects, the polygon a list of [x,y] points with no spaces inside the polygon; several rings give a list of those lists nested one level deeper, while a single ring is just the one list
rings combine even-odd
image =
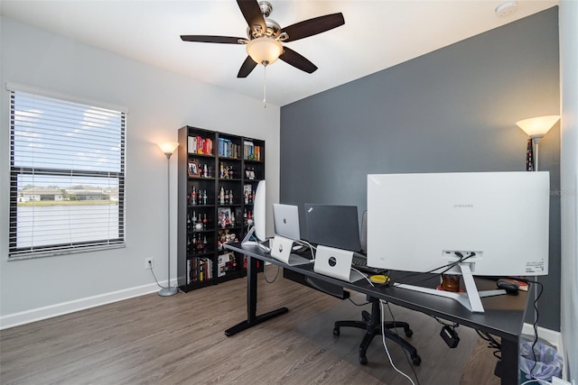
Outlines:
[{"label": "brown-grey wood plank floor beneath the desk and chair", "polygon": [[[267,267],[268,280],[275,271]],[[289,313],[231,337],[224,330],[246,318],[246,280],[169,298],[150,294],[3,330],[0,383],[410,383],[393,371],[378,338],[363,366],[356,350],[363,331],[332,335],[333,317],[357,316],[359,307],[281,277],[267,284],[261,276],[257,312],[285,306]],[[396,317],[398,311],[409,310],[396,307]],[[496,359],[477,335],[470,333],[449,349],[439,337],[439,324],[411,314],[416,316],[403,316],[422,356],[415,368],[419,383],[499,383],[492,374]],[[390,345],[396,366],[418,383],[401,349]],[[463,364],[455,363],[460,359]],[[448,382],[443,376],[448,371],[457,371],[461,380]]]}]

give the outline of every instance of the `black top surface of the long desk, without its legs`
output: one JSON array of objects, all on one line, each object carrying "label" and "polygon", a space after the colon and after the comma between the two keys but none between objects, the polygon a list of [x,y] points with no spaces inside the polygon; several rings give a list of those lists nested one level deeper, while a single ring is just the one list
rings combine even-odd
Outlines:
[{"label": "black top surface of the long desk, without its legs", "polygon": [[[325,280],[340,285],[345,289],[351,289],[375,298],[385,299],[393,304],[410,308],[430,316],[438,316],[447,321],[482,330],[490,335],[497,335],[516,344],[522,331],[528,301],[528,295],[525,291],[520,291],[517,296],[504,295],[482,298],[481,301],[485,313],[471,313],[470,310],[462,307],[460,303],[451,298],[437,297],[431,294],[395,287],[372,287],[367,280],[359,280],[353,283],[336,280],[314,272],[312,263],[288,266],[282,261],[275,260],[275,258],[263,252],[256,245],[233,243],[227,244],[225,247],[236,252],[244,252],[261,261],[279,265],[287,270],[294,270],[295,272],[317,280]],[[400,274],[404,273],[400,272]],[[435,285],[432,280],[414,284],[431,288]],[[476,285],[480,290],[496,289],[494,280],[476,278]]]}]

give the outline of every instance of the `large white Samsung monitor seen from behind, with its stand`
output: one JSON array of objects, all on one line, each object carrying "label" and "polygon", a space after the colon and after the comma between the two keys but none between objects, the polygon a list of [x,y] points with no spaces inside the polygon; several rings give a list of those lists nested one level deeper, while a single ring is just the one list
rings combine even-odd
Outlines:
[{"label": "large white Samsung monitor seen from behind, with its stand", "polygon": [[548,273],[549,190],[543,171],[369,174],[368,266],[435,273],[452,267],[465,294],[399,286],[483,313],[472,276]]}]

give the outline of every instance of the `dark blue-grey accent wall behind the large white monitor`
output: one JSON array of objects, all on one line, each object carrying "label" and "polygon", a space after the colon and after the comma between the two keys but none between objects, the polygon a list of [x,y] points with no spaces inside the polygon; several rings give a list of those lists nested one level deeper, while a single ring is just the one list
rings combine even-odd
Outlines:
[{"label": "dark blue-grey accent wall behind the large white monitor", "polygon": [[[556,6],[283,106],[280,202],[300,214],[305,203],[354,205],[360,216],[370,173],[525,170],[527,135],[515,123],[559,115],[558,55]],[[553,194],[538,325],[557,331],[559,124],[539,150]]]}]

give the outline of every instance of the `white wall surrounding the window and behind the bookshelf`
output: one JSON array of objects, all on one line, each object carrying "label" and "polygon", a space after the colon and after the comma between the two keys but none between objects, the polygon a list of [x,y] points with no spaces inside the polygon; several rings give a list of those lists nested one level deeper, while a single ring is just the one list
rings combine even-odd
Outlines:
[{"label": "white wall surrounding the window and behind the bookshelf", "polygon": [[[0,86],[0,327],[157,291],[144,258],[167,277],[166,158],[185,124],[266,140],[267,202],[279,197],[279,108],[2,17]],[[233,76],[233,75],[231,75]],[[129,108],[126,130],[126,248],[27,261],[8,259],[7,81]],[[176,203],[176,157],[172,158]],[[270,205],[269,205],[270,206]],[[171,208],[176,229],[176,204]],[[269,213],[268,218],[272,214]],[[268,233],[272,223],[268,221]],[[171,236],[176,277],[176,231]]]}]

